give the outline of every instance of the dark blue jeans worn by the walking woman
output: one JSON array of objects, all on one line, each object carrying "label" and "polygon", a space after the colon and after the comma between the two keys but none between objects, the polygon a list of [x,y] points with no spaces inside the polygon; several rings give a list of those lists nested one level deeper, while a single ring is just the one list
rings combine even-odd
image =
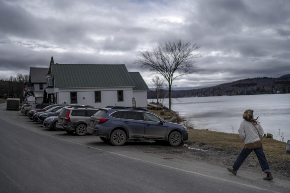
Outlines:
[{"label": "dark blue jeans worn by the walking woman", "polygon": [[270,167],[269,164],[266,160],[266,156],[265,153],[263,151],[263,146],[261,147],[256,147],[256,148],[252,148],[252,149],[242,149],[240,155],[238,156],[237,160],[234,163],[233,168],[234,169],[239,169],[240,166],[242,165],[242,163],[246,160],[246,158],[248,157],[248,155],[254,151],[256,153],[256,156],[259,160],[260,166],[263,170],[263,172],[271,172],[270,171]]}]

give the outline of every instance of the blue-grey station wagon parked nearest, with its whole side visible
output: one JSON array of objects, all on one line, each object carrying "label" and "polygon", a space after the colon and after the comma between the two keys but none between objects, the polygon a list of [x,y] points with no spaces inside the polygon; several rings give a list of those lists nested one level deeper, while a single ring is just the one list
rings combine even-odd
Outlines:
[{"label": "blue-grey station wagon parked nearest, with its whole side visible", "polygon": [[87,132],[121,146],[128,139],[163,140],[178,146],[188,139],[184,125],[167,122],[147,109],[114,106],[90,117]]}]

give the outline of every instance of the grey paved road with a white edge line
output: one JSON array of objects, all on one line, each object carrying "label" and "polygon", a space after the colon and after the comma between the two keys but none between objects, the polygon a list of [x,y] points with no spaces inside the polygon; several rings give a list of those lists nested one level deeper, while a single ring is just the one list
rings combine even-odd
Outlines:
[{"label": "grey paved road with a white edge line", "polygon": [[[290,181],[50,131],[0,104],[0,192],[289,192]],[[145,144],[146,145],[146,144]],[[174,147],[172,147],[174,148]]]}]

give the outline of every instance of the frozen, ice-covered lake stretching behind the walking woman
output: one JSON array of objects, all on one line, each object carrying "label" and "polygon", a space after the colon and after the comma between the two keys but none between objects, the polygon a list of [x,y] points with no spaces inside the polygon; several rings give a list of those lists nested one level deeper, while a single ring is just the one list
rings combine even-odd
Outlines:
[{"label": "frozen, ice-covered lake stretching behind the walking woman", "polygon": [[[148,102],[155,101],[148,99]],[[164,99],[168,107],[168,99]],[[273,134],[279,140],[284,136],[285,142],[290,140],[290,94],[240,95],[240,96],[209,96],[172,99],[171,109],[186,118],[191,118],[195,128],[210,129],[233,133],[243,120],[246,109],[253,109],[254,117],[264,133]]]}]

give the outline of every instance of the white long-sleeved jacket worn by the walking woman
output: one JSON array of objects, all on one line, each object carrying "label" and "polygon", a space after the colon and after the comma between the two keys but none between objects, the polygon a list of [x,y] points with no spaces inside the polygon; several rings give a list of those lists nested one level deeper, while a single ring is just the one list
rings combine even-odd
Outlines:
[{"label": "white long-sleeved jacket worn by the walking woman", "polygon": [[239,135],[245,141],[245,144],[259,141],[259,136],[263,136],[264,130],[260,124],[253,125],[251,122],[243,120],[240,124]]}]

